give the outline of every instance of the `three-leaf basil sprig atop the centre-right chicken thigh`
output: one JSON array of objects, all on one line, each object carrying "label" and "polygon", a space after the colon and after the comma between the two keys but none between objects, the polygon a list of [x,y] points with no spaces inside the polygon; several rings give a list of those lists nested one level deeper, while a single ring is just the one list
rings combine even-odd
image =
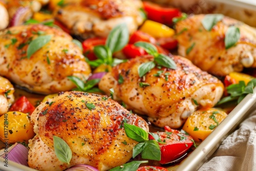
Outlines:
[{"label": "three-leaf basil sprig atop the centre-right chicken thigh", "polygon": [[154,56],[154,61],[145,62],[139,66],[138,73],[140,77],[155,68],[156,65],[176,70],[177,66],[174,60],[164,54],[159,54],[154,45],[143,41],[136,42],[134,45],[143,48],[148,54]]}]

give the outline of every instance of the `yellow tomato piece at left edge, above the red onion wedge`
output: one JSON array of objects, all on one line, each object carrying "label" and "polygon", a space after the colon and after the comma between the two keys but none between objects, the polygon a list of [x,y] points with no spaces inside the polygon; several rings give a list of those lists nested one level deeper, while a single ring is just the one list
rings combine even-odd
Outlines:
[{"label": "yellow tomato piece at left edge, above the red onion wedge", "polygon": [[0,117],[0,139],[8,143],[28,142],[35,136],[33,127],[28,114],[7,112]]}]

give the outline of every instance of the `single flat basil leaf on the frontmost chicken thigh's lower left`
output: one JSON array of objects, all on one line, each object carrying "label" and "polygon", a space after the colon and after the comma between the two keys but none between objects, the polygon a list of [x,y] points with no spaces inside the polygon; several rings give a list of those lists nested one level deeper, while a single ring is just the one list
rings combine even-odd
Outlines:
[{"label": "single flat basil leaf on the frontmost chicken thigh's lower left", "polygon": [[57,136],[53,136],[53,146],[56,157],[63,163],[70,162],[72,158],[72,151],[69,145]]}]

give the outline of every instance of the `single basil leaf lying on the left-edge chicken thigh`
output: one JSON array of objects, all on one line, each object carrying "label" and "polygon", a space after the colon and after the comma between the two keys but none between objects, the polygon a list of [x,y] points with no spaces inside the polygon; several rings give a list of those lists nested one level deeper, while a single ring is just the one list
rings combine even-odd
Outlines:
[{"label": "single basil leaf lying on the left-edge chicken thigh", "polygon": [[27,57],[30,58],[36,51],[48,44],[51,38],[51,35],[44,35],[32,40],[28,46]]}]

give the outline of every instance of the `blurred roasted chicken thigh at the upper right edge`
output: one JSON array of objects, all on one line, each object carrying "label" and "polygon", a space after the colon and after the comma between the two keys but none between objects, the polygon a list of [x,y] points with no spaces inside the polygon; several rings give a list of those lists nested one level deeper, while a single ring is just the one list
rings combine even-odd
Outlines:
[{"label": "blurred roasted chicken thigh at the upper right edge", "polygon": [[[203,71],[225,76],[244,67],[256,68],[256,30],[236,19],[224,17],[211,31],[201,24],[205,15],[193,15],[177,23],[178,53]],[[229,26],[240,29],[236,46],[225,49],[225,33]],[[195,45],[189,53],[188,48]]]}]

